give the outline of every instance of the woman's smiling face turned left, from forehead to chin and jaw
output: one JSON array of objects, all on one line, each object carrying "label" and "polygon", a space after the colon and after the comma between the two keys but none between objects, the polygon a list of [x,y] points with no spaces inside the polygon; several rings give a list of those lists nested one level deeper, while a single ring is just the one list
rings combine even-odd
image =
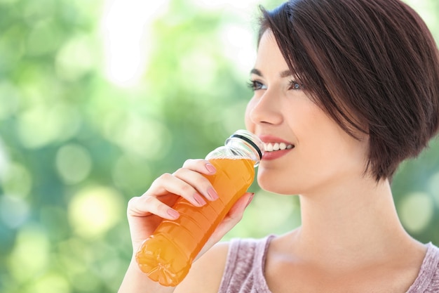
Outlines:
[{"label": "woman's smiling face turned left, from forehead to chin and jaw", "polygon": [[255,94],[245,124],[266,145],[257,175],[264,190],[305,195],[363,176],[367,138],[346,134],[306,96],[306,84],[295,82],[270,30],[250,78]]}]

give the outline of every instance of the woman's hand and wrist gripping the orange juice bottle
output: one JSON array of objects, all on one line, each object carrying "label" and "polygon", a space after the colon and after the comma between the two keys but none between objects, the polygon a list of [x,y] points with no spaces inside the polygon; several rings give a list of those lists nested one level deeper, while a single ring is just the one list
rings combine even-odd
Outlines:
[{"label": "woman's hand and wrist gripping the orange juice bottle", "polygon": [[[130,224],[131,240],[133,242],[133,259],[123,278],[119,292],[173,292],[174,288],[162,287],[149,280],[138,268],[135,253],[163,219],[177,219],[177,211],[171,207],[180,198],[184,197],[192,204],[201,207],[206,201],[217,199],[210,181],[203,175],[215,174],[215,167],[205,159],[189,159],[182,168],[173,174],[163,174],[158,177],[151,187],[140,197],[133,197],[128,202],[128,223]],[[203,247],[199,256],[233,228],[242,219],[245,207],[252,199],[252,193],[245,193],[231,207],[229,213],[219,224],[212,237]]]}]

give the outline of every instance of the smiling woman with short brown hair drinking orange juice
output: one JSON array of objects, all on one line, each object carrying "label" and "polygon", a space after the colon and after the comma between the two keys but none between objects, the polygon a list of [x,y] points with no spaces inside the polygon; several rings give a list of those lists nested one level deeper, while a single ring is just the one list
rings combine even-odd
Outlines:
[{"label": "smiling woman with short brown hair drinking orange juice", "polygon": [[[243,215],[234,205],[176,288],[133,258],[119,292],[439,292],[439,249],[401,226],[390,181],[438,133],[439,61],[424,22],[399,0],[292,0],[263,11],[245,124],[271,149],[257,180],[298,195],[302,226],[215,245]],[[188,160],[128,204],[134,252],[182,196],[217,194]],[[175,195],[170,196],[170,193]],[[214,246],[215,245],[215,246]]]}]

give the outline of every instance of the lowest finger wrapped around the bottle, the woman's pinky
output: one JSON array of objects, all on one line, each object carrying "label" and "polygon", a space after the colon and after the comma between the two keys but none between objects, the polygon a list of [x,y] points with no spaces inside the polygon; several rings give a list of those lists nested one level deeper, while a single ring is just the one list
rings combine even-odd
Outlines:
[{"label": "lowest finger wrapped around the bottle, the woman's pinky", "polygon": [[156,197],[133,197],[128,202],[128,216],[149,216],[155,214],[163,219],[175,220],[180,214],[175,209],[168,207]]}]

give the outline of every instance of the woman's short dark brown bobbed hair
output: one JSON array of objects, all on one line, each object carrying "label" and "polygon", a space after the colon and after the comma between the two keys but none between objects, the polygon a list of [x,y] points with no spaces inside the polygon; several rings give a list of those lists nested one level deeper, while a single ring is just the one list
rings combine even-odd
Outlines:
[{"label": "woman's short dark brown bobbed hair", "polygon": [[290,0],[262,9],[304,89],[351,136],[369,136],[365,171],[391,178],[438,132],[439,54],[399,0]]}]

